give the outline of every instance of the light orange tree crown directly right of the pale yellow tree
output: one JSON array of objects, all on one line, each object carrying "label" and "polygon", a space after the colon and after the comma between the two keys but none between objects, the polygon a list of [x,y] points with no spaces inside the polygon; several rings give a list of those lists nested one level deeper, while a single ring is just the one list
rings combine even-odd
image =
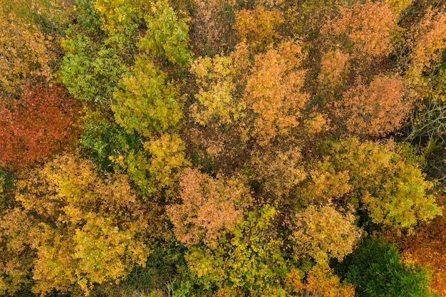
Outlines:
[{"label": "light orange tree crown directly right of the pale yellow tree", "polygon": [[284,42],[255,57],[244,100],[254,112],[253,133],[263,145],[299,126],[309,100],[301,91],[306,71],[299,66],[304,56],[299,43]]}]

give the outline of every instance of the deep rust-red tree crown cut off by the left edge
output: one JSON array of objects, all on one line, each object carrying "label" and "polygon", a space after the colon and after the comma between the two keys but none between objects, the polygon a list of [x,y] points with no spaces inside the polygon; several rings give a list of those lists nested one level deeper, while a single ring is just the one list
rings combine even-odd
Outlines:
[{"label": "deep rust-red tree crown cut off by the left edge", "polygon": [[54,85],[26,86],[0,106],[0,165],[23,166],[61,150],[76,137],[80,106]]}]

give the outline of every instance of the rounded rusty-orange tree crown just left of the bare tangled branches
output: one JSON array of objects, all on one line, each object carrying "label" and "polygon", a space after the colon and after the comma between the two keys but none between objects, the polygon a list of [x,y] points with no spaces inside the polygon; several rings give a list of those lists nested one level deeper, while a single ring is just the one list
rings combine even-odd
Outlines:
[{"label": "rounded rusty-orange tree crown just left of the bare tangled branches", "polygon": [[358,83],[334,103],[335,114],[353,135],[383,136],[397,130],[410,112],[398,75],[377,75],[369,85]]}]

